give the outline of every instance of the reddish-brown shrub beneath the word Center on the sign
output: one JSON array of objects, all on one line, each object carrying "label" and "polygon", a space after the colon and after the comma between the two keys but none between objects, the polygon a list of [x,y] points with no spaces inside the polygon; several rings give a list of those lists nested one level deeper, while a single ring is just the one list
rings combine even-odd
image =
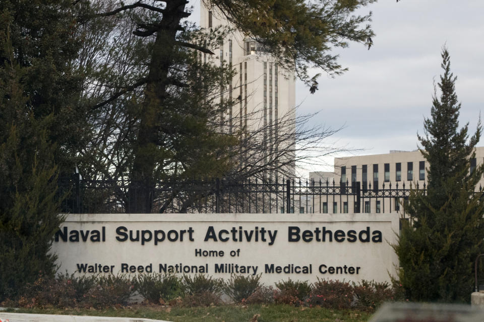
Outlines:
[{"label": "reddish-brown shrub beneath the word Center on the sign", "polygon": [[353,301],[353,287],[345,281],[320,280],[314,283],[306,304],[326,308],[347,309]]}]

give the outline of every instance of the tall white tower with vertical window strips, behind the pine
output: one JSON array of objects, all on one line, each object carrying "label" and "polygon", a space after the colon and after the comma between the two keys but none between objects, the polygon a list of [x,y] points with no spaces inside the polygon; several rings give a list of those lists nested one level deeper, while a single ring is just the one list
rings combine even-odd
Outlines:
[{"label": "tall white tower with vertical window strips, behind the pine", "polygon": [[[228,23],[215,8],[207,8],[202,2],[200,25],[202,29],[210,29]],[[228,123],[228,131],[260,129],[265,157],[293,145],[294,138],[286,134],[288,130],[294,133],[295,128],[293,122],[292,128],[288,128],[291,126],[288,120],[295,117],[294,72],[281,68],[275,57],[265,52],[262,46],[237,31],[225,37],[216,53],[215,57],[202,54],[201,59],[236,70],[228,86],[220,89],[221,99],[234,103],[221,115],[224,123]],[[291,153],[287,154],[286,158],[292,157]],[[294,170],[290,172],[294,173]]]}]

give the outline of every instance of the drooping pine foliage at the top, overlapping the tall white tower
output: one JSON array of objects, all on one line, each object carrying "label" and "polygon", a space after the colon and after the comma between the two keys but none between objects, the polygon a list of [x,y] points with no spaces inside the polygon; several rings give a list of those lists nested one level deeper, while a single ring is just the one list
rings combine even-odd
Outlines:
[{"label": "drooping pine foliage at the top, overlapping the tall white tower", "polygon": [[345,48],[348,41],[371,45],[374,33],[368,24],[371,12],[352,15],[376,0],[307,2],[302,0],[207,1],[217,7],[233,26],[257,40],[273,53],[279,62],[308,85],[315,78],[309,68],[330,75],[346,69],[331,54],[335,47]]}]

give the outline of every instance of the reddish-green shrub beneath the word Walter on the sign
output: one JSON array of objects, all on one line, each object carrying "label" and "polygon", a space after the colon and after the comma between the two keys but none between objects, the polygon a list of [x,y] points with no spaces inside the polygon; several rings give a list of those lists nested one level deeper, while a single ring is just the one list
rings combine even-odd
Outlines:
[{"label": "reddish-green shrub beneath the word Walter on the sign", "polygon": [[125,275],[100,276],[98,284],[84,296],[83,306],[101,308],[112,305],[126,305],[135,287]]}]

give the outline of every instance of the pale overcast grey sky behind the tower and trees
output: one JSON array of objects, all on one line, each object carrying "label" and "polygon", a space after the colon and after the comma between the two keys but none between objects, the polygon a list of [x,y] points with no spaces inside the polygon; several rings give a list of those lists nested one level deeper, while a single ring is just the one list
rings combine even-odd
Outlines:
[{"label": "pale overcast grey sky behind the tower and trees", "polygon": [[[352,43],[339,50],[339,62],[349,70],[336,78],[320,77],[314,95],[298,83],[299,113],[320,111],[314,124],[345,126],[332,138],[335,144],[364,149],[338,156],[414,150],[423,118],[430,116],[433,79],[441,74],[446,44],[458,76],[459,121],[469,122],[472,133],[484,102],[484,1],[380,0],[362,13],[370,10],[373,47]],[[484,138],[478,145],[484,146]]]}]

